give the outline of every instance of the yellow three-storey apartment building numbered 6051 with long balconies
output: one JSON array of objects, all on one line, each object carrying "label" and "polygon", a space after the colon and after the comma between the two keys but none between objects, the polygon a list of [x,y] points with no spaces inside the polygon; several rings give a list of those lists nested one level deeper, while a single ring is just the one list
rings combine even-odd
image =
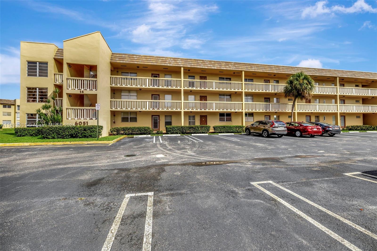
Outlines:
[{"label": "yellow three-storey apartment building numbered 6051 with long balconies", "polygon": [[296,104],[294,121],[377,125],[376,72],[114,53],[100,32],[64,40],[63,48],[21,42],[21,125],[35,124],[35,110],[55,88],[63,124],[98,119],[103,136],[119,126],[164,131],[166,125],[287,122],[293,101],[282,89],[299,71],[316,87],[310,100]]}]

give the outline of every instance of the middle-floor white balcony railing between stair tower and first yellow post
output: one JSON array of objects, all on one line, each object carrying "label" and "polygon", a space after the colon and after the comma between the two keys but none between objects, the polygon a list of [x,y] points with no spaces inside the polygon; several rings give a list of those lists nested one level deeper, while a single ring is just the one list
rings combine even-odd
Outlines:
[{"label": "middle-floor white balcony railing between stair tower and first yellow post", "polygon": [[119,110],[181,110],[181,101],[112,99],[110,107]]}]

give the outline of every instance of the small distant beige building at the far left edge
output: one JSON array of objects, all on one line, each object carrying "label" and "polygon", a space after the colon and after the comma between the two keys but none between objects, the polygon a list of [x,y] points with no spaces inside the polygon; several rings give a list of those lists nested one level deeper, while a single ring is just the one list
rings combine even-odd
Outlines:
[{"label": "small distant beige building at the far left edge", "polygon": [[4,128],[20,124],[20,99],[0,99],[0,124]]}]

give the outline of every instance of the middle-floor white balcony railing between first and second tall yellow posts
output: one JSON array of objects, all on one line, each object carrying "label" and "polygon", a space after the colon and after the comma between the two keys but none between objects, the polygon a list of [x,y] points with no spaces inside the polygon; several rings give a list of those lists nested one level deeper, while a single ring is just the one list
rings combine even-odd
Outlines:
[{"label": "middle-floor white balcony railing between first and second tall yellow posts", "polygon": [[242,102],[184,101],[183,107],[190,111],[242,111]]}]

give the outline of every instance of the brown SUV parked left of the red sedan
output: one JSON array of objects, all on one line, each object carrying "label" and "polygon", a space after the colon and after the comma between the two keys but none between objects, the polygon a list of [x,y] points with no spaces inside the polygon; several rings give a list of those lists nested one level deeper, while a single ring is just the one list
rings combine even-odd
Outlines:
[{"label": "brown SUV parked left of the red sedan", "polygon": [[259,120],[255,121],[250,126],[246,126],[245,133],[250,135],[256,133],[262,135],[264,138],[270,135],[277,135],[279,138],[287,134],[287,125],[279,120]]}]

